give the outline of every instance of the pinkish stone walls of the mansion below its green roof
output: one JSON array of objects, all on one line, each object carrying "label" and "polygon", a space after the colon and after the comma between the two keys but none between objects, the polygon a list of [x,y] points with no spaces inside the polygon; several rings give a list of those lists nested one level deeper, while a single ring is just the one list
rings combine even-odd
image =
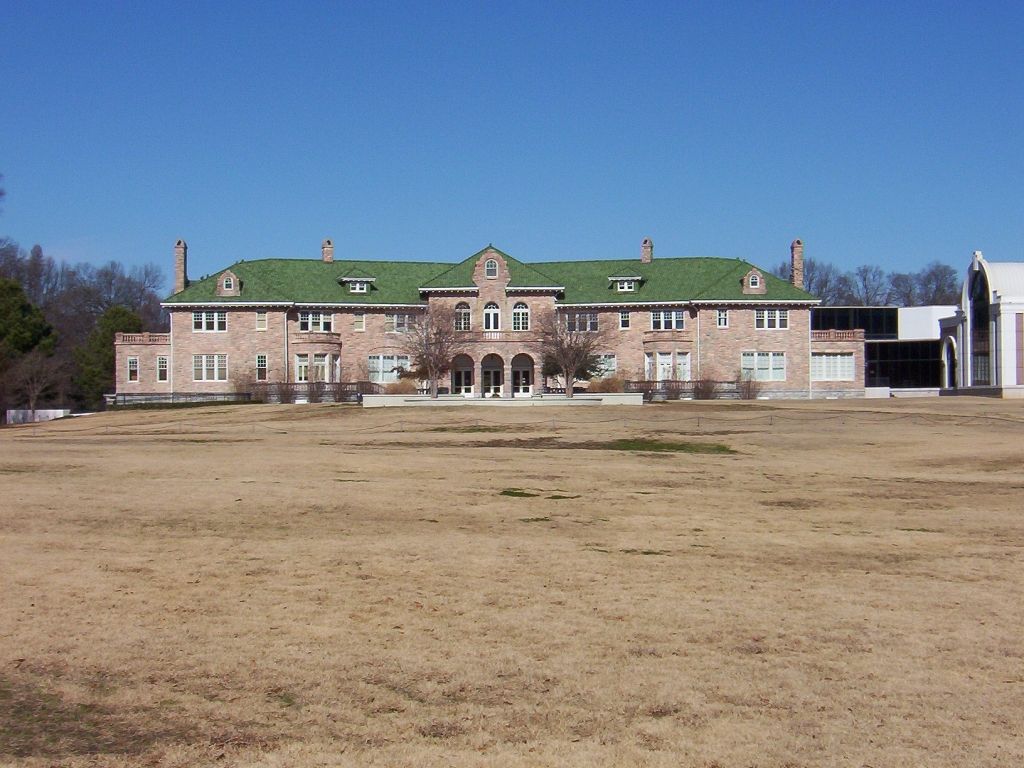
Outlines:
[{"label": "pinkish stone walls of the mansion below its green roof", "polygon": [[[331,262],[333,261],[333,246]],[[324,259],[328,262],[328,259]],[[485,271],[487,261],[497,262],[497,273]],[[812,334],[811,301],[773,302],[764,296],[763,278],[748,286],[752,269],[743,276],[742,300],[631,302],[614,296],[601,304],[560,301],[557,286],[513,287],[504,254],[485,249],[478,255],[472,285],[424,289],[421,301],[409,305],[303,304],[284,302],[252,304],[209,301],[168,304],[169,334],[119,335],[117,342],[117,393],[223,394],[247,391],[257,378],[268,383],[299,380],[299,356],[311,360],[325,355],[329,381],[365,381],[371,377],[371,357],[400,355],[399,332],[386,326],[391,313],[422,312],[425,306],[469,306],[470,330],[465,333],[466,354],[457,360],[449,381],[441,386],[465,387],[480,395],[486,385],[501,396],[524,396],[540,391],[540,352],[532,330],[536,318],[556,308],[560,311],[596,312],[602,330],[607,329],[603,354],[613,355],[615,375],[624,379],[715,379],[732,381],[744,365],[770,371],[760,383],[765,396],[833,396],[863,393],[863,338]],[[242,283],[232,272],[232,291]],[[218,288],[218,291],[220,288]],[[234,293],[238,296],[238,293]],[[243,292],[242,297],[245,297]],[[513,330],[513,308],[528,307],[530,330]],[[484,328],[488,304],[498,307],[495,328]],[[683,313],[682,328],[657,330],[652,312]],[[759,312],[776,314],[759,324]],[[318,312],[322,323],[310,330],[300,328],[303,312]],[[200,319],[194,321],[194,313]],[[212,317],[210,315],[213,315]],[[784,315],[784,322],[778,317]],[[628,325],[624,322],[628,317]],[[329,322],[330,330],[323,322]],[[678,325],[673,314],[673,326]],[[764,326],[759,328],[759,325]],[[197,328],[198,326],[198,328]],[[856,333],[856,332],[853,332]],[[827,352],[854,357],[856,372],[847,381],[812,381],[811,355]],[[129,368],[129,358],[135,360]],[[166,360],[166,379],[158,376],[158,358]],[[257,359],[265,360],[265,374],[257,376]],[[199,375],[197,375],[199,372]]]}]

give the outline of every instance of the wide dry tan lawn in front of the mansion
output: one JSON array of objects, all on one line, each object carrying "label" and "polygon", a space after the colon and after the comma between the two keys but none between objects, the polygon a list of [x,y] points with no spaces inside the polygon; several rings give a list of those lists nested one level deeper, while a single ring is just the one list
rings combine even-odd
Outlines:
[{"label": "wide dry tan lawn in front of the mansion", "polygon": [[0,764],[1019,766],[1022,437],[973,398],[3,429]]}]

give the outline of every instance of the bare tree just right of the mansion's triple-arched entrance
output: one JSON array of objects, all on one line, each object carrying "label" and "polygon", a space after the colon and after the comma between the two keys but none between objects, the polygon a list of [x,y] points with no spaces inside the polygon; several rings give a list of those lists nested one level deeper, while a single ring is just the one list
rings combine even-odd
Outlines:
[{"label": "bare tree just right of the mansion's triple-arched entrance", "polygon": [[596,312],[548,310],[538,315],[541,356],[546,371],[557,371],[565,381],[565,396],[572,386],[595,370],[597,354],[607,344],[607,328],[599,328]]}]

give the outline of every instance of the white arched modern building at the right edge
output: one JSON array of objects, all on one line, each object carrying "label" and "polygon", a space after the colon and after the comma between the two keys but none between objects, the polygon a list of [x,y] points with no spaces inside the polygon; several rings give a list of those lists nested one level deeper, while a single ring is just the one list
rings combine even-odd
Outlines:
[{"label": "white arched modern building at the right edge", "polygon": [[943,394],[1024,397],[1024,262],[975,251],[959,306],[939,329]]}]

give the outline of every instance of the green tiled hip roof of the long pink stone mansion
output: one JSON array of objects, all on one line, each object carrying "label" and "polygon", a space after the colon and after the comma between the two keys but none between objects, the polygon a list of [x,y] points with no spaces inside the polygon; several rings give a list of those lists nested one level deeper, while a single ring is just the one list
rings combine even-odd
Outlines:
[{"label": "green tiled hip roof of the long pink stone mansion", "polygon": [[[260,259],[240,261],[229,268],[242,284],[240,296],[217,296],[221,272],[193,282],[167,299],[168,304],[222,302],[419,304],[421,288],[466,288],[473,285],[473,267],[480,251],[458,264],[425,261],[356,261],[326,263],[319,259]],[[499,251],[499,253],[501,253]],[[546,261],[525,264],[506,254],[510,288],[563,287],[559,303],[632,304],[681,301],[815,301],[806,291],[762,269],[767,292],[743,294],[741,280],[754,265],[741,259],[687,257]],[[639,275],[637,290],[618,293],[608,278]],[[374,278],[370,290],[351,293],[338,279]]]}]

